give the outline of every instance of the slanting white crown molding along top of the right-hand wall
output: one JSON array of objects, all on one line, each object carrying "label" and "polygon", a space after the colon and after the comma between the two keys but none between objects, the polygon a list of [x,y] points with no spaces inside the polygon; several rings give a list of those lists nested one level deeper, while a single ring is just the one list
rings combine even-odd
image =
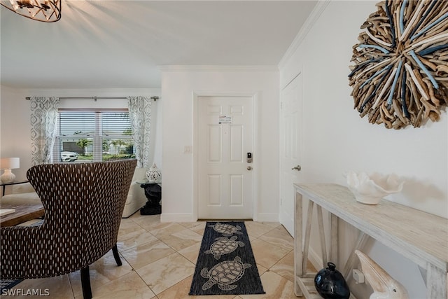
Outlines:
[{"label": "slanting white crown molding along top of the right-hand wall", "polygon": [[279,62],[279,69],[283,68],[285,64],[288,62],[290,57],[293,56],[297,48],[299,48],[300,44],[304,40],[305,36],[307,36],[308,32],[311,30],[311,28],[314,26],[314,23],[320,18],[323,11],[325,11],[325,8],[330,4],[330,1],[332,0],[319,0],[314,7],[313,11],[309,14],[309,17],[304,22],[304,25],[300,28],[299,33],[295,36],[295,39],[293,40],[293,43],[289,46],[288,50],[286,50],[285,55],[281,58]]}]

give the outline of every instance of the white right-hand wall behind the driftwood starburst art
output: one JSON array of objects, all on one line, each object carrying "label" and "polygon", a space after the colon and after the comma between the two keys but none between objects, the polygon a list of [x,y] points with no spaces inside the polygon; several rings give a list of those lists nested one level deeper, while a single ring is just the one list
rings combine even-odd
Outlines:
[{"label": "white right-hand wall behind the driftwood starburst art", "polygon": [[[326,7],[324,4],[320,18],[281,62],[280,88],[303,71],[302,176],[305,182],[346,186],[342,174],[347,170],[395,173],[406,183],[400,194],[389,195],[388,200],[448,218],[446,111],[437,123],[416,129],[387,130],[384,125],[368,123],[367,118],[360,118],[353,109],[347,77],[352,46],[358,42],[360,25],[377,11],[376,3],[330,1]],[[356,235],[347,225],[341,226],[342,269]],[[378,242],[365,251],[405,285],[409,298],[426,298],[416,265]],[[358,298],[368,297],[365,284],[351,287],[362,294]]]}]

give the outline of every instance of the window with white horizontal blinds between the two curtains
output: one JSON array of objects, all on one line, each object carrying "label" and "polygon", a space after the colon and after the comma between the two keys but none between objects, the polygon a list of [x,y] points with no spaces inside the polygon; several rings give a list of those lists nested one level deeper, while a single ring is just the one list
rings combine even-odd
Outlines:
[{"label": "window with white horizontal blinds between the two curtains", "polygon": [[99,162],[135,158],[127,110],[59,110],[53,161]]}]

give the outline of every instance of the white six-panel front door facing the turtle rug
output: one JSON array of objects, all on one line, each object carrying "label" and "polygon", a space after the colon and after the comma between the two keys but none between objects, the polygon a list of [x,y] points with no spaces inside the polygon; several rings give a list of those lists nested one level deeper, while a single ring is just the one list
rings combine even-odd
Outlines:
[{"label": "white six-panel front door facing the turtle rug", "polygon": [[251,219],[253,97],[199,97],[198,134],[198,218]]}]

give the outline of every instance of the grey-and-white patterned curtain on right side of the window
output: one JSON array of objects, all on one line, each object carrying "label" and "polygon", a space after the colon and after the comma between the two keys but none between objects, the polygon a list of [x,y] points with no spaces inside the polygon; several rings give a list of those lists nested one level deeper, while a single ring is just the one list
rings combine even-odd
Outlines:
[{"label": "grey-and-white patterned curtain on right side of the window", "polygon": [[129,117],[134,135],[137,167],[149,168],[151,137],[151,99],[149,97],[127,97]]}]

